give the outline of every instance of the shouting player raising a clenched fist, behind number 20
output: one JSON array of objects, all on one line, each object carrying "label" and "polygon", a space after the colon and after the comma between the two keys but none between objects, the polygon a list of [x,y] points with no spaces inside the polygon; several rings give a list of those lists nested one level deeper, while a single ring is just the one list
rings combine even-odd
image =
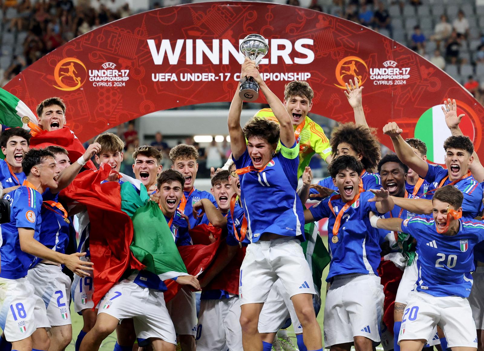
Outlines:
[{"label": "shouting player raising a clenched fist, behind number 20", "polygon": [[[445,165],[430,165],[423,161],[401,137],[403,132],[395,122],[383,127],[383,132],[392,139],[398,158],[409,168],[431,184],[433,190],[427,191],[427,198],[431,197],[435,189],[445,185],[454,185],[464,193],[462,204],[464,216],[474,218],[479,213],[483,199],[482,187],[469,171],[473,161],[474,146],[467,136],[450,136],[444,142]],[[427,202],[430,204],[430,202]],[[414,211],[417,213],[417,211]],[[423,211],[422,213],[430,213]]]}]

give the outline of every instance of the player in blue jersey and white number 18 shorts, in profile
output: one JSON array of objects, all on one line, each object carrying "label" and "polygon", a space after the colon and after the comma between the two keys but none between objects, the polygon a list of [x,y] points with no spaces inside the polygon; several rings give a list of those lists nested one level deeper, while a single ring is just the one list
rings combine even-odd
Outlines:
[{"label": "player in blue jersey and white number 18 shorts, in profile", "polygon": [[[80,168],[80,167],[79,167]],[[92,263],[79,260],[86,253],[66,255],[41,244],[42,193],[56,189],[60,169],[55,155],[45,149],[32,149],[23,156],[22,170],[27,176],[24,185],[9,193],[11,217],[1,225],[3,244],[0,248],[1,309],[5,316],[0,325],[12,350],[49,349],[49,337],[45,328],[47,319],[45,303],[35,294],[35,288],[27,278],[34,255],[40,259],[65,264],[79,276],[88,276]]]}]

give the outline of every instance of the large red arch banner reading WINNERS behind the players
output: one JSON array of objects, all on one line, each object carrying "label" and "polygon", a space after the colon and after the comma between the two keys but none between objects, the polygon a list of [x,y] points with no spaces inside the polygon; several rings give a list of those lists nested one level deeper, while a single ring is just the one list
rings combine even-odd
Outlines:
[{"label": "large red arch banner reading WINNERS behind the players", "polygon": [[239,43],[251,33],[268,40],[260,72],[279,96],[288,81],[307,80],[315,91],[312,112],[351,121],[343,87],[356,75],[368,124],[383,144],[391,146],[382,126],[396,121],[404,137],[427,142],[432,161],[450,135],[438,111],[451,97],[466,113],[463,129],[484,151],[484,108],[449,75],[371,29],[287,5],[207,2],[126,17],[62,45],[5,89],[33,111],[43,99],[61,97],[68,124],[85,141],[153,111],[231,101],[243,60]]}]

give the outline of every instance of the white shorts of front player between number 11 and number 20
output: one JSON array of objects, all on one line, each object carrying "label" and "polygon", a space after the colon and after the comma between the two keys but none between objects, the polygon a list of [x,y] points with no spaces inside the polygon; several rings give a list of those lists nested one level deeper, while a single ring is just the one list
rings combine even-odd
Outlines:
[{"label": "white shorts of front player between number 11 and number 20", "polygon": [[383,285],[375,275],[351,274],[333,279],[324,305],[324,346],[364,336],[380,342]]}]

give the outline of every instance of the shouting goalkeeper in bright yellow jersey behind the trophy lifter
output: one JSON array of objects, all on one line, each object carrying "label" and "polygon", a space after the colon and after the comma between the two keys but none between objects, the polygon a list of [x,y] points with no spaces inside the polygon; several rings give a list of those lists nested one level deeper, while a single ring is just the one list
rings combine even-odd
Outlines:
[{"label": "shouting goalkeeper in bright yellow jersey behind the trophy lifter", "polygon": [[[284,89],[284,107],[291,117],[294,137],[299,144],[298,178],[309,165],[311,157],[317,153],[321,159],[330,163],[333,160],[331,146],[323,129],[307,116],[313,107],[314,91],[307,82],[295,80],[286,84]],[[263,108],[254,115],[279,123],[270,108]],[[281,148],[277,145],[276,152]]]}]

